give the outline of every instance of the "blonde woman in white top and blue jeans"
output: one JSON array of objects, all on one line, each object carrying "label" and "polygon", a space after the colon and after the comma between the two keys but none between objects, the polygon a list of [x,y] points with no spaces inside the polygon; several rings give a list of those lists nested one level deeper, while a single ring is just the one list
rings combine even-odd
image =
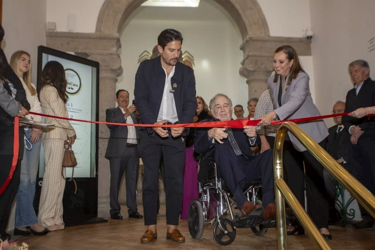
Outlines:
[{"label": "blonde woman in white top and blue jeans", "polygon": [[[10,58],[10,66],[20,78],[26,92],[26,99],[30,103],[30,111],[42,113],[36,87],[31,83],[30,54],[17,51]],[[42,122],[42,117],[28,114],[23,120]],[[39,166],[42,128],[39,126],[25,127],[24,156],[21,161],[21,180],[17,191],[16,219],[14,235],[45,235],[49,230],[38,224],[33,201],[35,195],[36,175]]]}]

